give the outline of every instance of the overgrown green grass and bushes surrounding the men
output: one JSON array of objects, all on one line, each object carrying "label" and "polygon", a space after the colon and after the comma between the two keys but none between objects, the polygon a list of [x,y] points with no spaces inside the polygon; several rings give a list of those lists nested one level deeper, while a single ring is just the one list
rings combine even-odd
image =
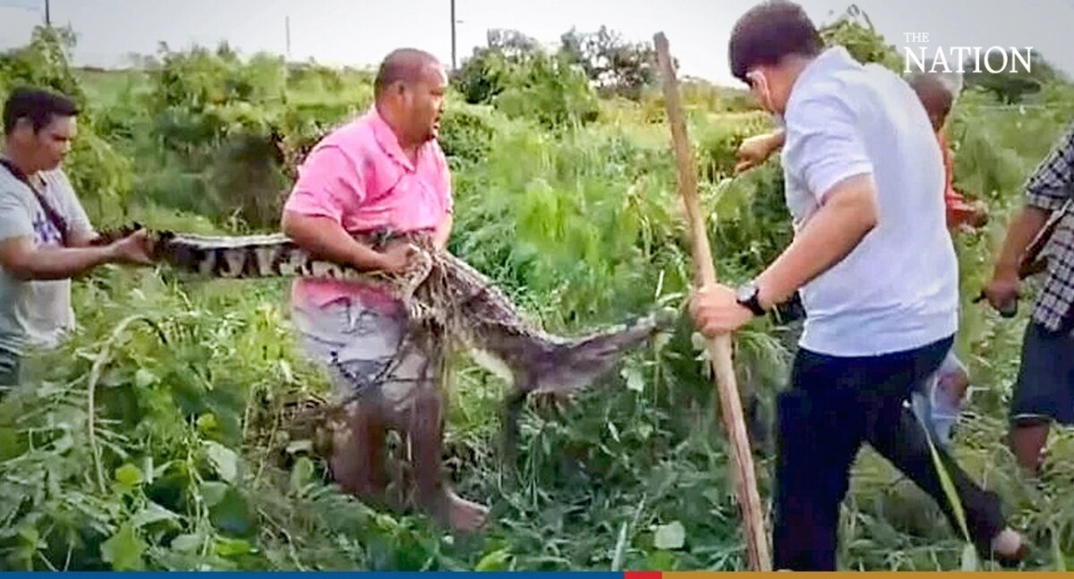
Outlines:
[{"label": "overgrown green grass and bushes surrounding the men", "polygon": [[[170,55],[151,74],[61,68],[45,81],[68,75],[88,108],[70,170],[97,222],[200,232],[272,230],[293,168],[271,160],[266,135],[280,131],[300,149],[372,95],[367,74],[212,52]],[[737,143],[766,130],[766,115],[714,95],[686,99],[690,132],[717,275],[739,281],[790,230],[777,160],[725,180]],[[552,127],[458,96],[448,106],[452,251],[557,332],[683,304],[690,250],[655,90]],[[1074,504],[1062,498],[1074,488],[1074,434],[1054,437],[1040,480],[1017,473],[1004,412],[1028,308],[1004,320],[970,300],[1025,177],[1072,118],[1074,89],[1056,84],[1025,108],[967,93],[950,127],[956,184],[992,216],[957,242],[958,347],[974,391],[956,453],[1029,534],[1033,569],[1074,563]],[[328,385],[297,350],[287,298],[281,281],[207,283],[166,269],[105,267],[78,280],[81,328],[61,349],[35,353],[30,385],[0,402],[3,566],[744,568],[717,399],[685,319],[562,416],[527,409],[513,468],[495,450],[504,385],[460,357],[446,465],[464,495],[490,504],[492,523],[459,538],[420,516],[374,511],[326,481],[295,417]],[[770,320],[736,336],[766,500],[770,408],[795,331]],[[963,541],[924,493],[871,450],[854,475],[842,567],[959,568]]]}]

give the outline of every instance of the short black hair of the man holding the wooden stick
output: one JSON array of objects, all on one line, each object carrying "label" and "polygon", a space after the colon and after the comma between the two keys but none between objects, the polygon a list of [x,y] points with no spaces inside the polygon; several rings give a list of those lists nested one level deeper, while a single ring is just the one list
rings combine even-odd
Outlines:
[{"label": "short black hair of the man holding the wooden stick", "polygon": [[779,64],[788,55],[816,56],[824,40],[809,15],[787,0],[766,0],[742,15],[731,29],[727,57],[731,74],[749,84],[754,67]]}]

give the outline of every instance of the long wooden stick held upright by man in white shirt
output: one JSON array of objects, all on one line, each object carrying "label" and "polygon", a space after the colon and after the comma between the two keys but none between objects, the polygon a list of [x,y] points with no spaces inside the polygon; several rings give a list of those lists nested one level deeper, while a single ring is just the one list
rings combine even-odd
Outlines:
[{"label": "long wooden stick held upright by man in white shirt", "polygon": [[[679,103],[679,86],[668,50],[668,41],[664,32],[658,32],[653,40],[656,43],[656,58],[664,76],[664,101],[667,107],[668,122],[671,125],[671,140],[674,144],[676,160],[679,167],[679,192],[682,193],[685,202],[686,217],[691,226],[694,281],[698,287],[701,287],[716,283],[716,271],[712,261],[712,251],[709,249],[709,237],[705,231],[705,219],[701,217],[700,202],[697,197],[697,174],[691,156],[690,142],[686,139],[686,122],[683,120]],[[745,420],[742,418],[742,402],[739,400],[735,366],[731,364],[730,336],[724,334],[709,339],[708,347],[709,357],[712,359],[715,371],[724,428],[731,439],[735,490],[742,517],[745,520],[750,568],[768,571],[771,570],[772,564],[768,554],[765,512],[757,494],[753,454],[750,452]]]}]

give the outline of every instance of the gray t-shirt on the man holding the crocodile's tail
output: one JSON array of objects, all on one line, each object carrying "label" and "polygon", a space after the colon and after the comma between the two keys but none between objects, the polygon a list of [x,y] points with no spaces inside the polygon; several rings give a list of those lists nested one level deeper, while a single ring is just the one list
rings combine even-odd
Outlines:
[{"label": "gray t-shirt on the man holding the crocodile's tail", "polygon": [[[62,169],[39,173],[42,196],[68,223],[68,235],[92,233]],[[33,191],[0,165],[0,241],[29,236],[38,247],[62,245]],[[74,327],[71,280],[23,281],[0,265],[0,348],[21,353],[27,346],[52,348]]]}]

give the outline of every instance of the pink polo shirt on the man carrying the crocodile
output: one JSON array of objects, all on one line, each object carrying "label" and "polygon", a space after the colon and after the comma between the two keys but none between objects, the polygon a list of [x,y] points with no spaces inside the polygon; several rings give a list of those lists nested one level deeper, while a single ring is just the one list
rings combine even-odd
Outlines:
[{"label": "pink polo shirt on the man carrying the crocodile", "polygon": [[[423,145],[411,163],[373,107],[314,147],[284,211],[326,217],[358,234],[431,231],[452,206],[451,174],[437,142]],[[295,305],[315,307],[343,298],[387,305],[384,295],[367,286],[334,279],[296,279],[291,298]]]}]

